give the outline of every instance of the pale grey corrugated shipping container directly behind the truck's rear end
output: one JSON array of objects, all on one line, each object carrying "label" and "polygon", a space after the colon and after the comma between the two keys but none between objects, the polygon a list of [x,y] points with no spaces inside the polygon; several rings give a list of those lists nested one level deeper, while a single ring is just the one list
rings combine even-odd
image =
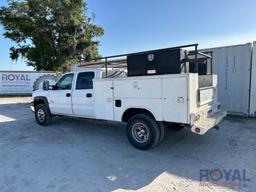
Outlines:
[{"label": "pale grey corrugated shipping container directly behind the truck's rear end", "polygon": [[[210,48],[213,73],[218,75],[218,99],[229,114],[248,116],[252,44]],[[255,59],[256,60],[256,59]]]}]

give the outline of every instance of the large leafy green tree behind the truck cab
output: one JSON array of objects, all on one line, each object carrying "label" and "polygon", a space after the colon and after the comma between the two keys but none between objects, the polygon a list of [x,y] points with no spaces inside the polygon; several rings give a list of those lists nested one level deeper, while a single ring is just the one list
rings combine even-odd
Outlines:
[{"label": "large leafy green tree behind the truck cab", "polygon": [[0,8],[4,37],[16,42],[10,57],[26,58],[36,70],[65,71],[81,59],[99,56],[102,27],[87,16],[84,0],[11,0]]}]

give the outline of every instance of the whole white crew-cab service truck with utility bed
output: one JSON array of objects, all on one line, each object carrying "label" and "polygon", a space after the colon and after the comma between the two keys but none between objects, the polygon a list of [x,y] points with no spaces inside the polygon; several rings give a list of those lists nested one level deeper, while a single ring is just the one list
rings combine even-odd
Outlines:
[{"label": "whole white crew-cab service truck with utility bed", "polygon": [[[54,116],[72,116],[125,122],[130,143],[146,150],[162,141],[170,125],[203,135],[226,116],[217,101],[216,75],[152,75],[150,70],[150,75],[129,77],[114,77],[116,71],[100,67],[66,73],[33,93],[36,121],[46,125]],[[106,75],[111,71],[111,77]],[[209,77],[210,86],[200,87]]]}]

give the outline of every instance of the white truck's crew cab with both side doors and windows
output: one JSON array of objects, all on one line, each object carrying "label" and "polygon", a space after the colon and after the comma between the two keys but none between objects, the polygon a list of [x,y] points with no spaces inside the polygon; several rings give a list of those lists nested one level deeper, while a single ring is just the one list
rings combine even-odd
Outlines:
[{"label": "white truck's crew cab with both side doors and windows", "polygon": [[47,91],[51,113],[95,118],[92,80],[101,77],[102,71],[98,69],[64,74],[53,89]]}]

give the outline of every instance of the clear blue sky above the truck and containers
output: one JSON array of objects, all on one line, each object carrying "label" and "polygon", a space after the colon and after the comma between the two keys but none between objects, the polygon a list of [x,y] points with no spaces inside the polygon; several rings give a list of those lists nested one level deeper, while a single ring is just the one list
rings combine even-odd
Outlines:
[{"label": "clear blue sky above the truck and containers", "polygon": [[[199,43],[201,48],[256,40],[255,0],[88,0],[105,29],[103,56]],[[0,5],[6,4],[5,0]],[[13,45],[0,27],[0,70],[28,70],[12,62]]]}]

